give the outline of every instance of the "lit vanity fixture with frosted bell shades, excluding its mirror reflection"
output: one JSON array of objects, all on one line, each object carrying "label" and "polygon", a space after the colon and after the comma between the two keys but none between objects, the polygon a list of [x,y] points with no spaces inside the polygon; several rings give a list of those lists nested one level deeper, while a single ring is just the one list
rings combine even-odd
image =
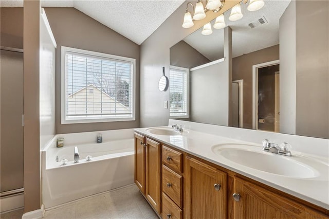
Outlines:
[{"label": "lit vanity fixture with frosted bell shades, excluding its mirror reflection", "polygon": [[[212,10],[213,12],[218,12],[220,11],[223,6],[224,6],[225,0],[208,0],[207,4],[206,4],[206,8],[204,8],[204,4],[202,3],[201,0],[199,0],[196,5],[195,5],[195,10],[194,10],[194,6],[192,3],[188,3],[186,5],[186,11],[184,14],[184,22],[181,25],[184,28],[190,28],[193,27],[194,23],[193,20],[195,21],[199,21],[199,20],[203,20],[206,17],[206,13],[208,10]],[[192,19],[192,15],[188,9],[188,6],[192,5],[193,8],[193,19]]]}]

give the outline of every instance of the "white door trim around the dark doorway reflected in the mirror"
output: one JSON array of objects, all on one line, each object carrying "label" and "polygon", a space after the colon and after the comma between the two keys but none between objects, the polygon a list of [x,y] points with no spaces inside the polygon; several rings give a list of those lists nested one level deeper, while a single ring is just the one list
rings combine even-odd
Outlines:
[{"label": "white door trim around the dark doorway reflected in the mirror", "polygon": [[258,122],[257,122],[258,96],[256,95],[256,92],[258,90],[258,68],[267,67],[271,65],[278,65],[278,64],[280,64],[279,59],[252,66],[252,129],[254,130],[257,130],[257,126],[258,126]]}]

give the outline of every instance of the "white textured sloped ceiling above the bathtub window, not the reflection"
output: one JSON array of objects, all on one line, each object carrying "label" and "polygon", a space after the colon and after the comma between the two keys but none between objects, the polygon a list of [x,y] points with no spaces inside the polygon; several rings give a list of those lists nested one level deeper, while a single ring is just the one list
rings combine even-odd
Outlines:
[{"label": "white textured sloped ceiling above the bathtub window, not the reflection", "polygon": [[[0,0],[1,7],[23,7],[22,0]],[[74,7],[136,44],[146,40],[184,0],[42,0],[42,7]]]}]

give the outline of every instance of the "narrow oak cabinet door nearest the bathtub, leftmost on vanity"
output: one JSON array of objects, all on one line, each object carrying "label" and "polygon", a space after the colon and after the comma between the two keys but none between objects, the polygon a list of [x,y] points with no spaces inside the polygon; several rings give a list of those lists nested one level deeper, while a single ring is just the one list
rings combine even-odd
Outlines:
[{"label": "narrow oak cabinet door nearest the bathtub, leftmost on vanity", "polygon": [[145,137],[135,133],[135,184],[145,194]]}]

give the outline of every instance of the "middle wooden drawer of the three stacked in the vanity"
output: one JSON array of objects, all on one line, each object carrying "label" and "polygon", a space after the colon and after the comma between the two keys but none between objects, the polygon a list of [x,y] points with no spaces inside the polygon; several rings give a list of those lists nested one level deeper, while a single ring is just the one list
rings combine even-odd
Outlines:
[{"label": "middle wooden drawer of the three stacked in the vanity", "polygon": [[162,192],[166,193],[178,207],[182,207],[183,177],[162,165]]}]

